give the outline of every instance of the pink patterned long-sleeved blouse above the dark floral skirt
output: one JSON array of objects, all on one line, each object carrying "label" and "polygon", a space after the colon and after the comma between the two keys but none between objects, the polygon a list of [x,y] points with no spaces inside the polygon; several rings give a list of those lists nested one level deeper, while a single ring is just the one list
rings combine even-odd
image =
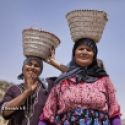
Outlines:
[{"label": "pink patterned long-sleeved blouse above the dark floral skirt", "polygon": [[101,77],[94,83],[77,83],[75,77],[62,80],[53,87],[40,118],[51,121],[77,107],[99,110],[113,118],[120,115],[115,92],[109,77]]}]

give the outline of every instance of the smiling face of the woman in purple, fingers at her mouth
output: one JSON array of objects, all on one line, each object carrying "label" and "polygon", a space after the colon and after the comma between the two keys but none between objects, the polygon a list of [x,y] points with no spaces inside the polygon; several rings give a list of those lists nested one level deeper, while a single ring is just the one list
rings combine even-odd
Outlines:
[{"label": "smiling face of the woman in purple, fingers at her mouth", "polygon": [[24,77],[36,79],[40,75],[41,66],[36,60],[31,60],[24,65]]}]

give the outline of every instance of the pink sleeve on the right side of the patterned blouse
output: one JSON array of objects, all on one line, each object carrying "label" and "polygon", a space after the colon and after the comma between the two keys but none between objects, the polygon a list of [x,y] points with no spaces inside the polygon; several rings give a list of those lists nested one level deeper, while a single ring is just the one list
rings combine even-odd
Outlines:
[{"label": "pink sleeve on the right side of the patterned blouse", "polygon": [[108,114],[109,118],[120,116],[120,106],[116,99],[116,90],[110,78],[106,79],[106,88],[108,92]]}]

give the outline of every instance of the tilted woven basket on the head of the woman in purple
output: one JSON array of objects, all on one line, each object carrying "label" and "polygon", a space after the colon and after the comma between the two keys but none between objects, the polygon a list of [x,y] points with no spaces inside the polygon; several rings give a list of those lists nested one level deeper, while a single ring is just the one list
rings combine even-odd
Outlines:
[{"label": "tilted woven basket on the head of the woman in purple", "polygon": [[25,56],[47,59],[51,55],[50,49],[55,49],[60,44],[57,36],[39,29],[24,29],[22,36],[23,54]]}]

